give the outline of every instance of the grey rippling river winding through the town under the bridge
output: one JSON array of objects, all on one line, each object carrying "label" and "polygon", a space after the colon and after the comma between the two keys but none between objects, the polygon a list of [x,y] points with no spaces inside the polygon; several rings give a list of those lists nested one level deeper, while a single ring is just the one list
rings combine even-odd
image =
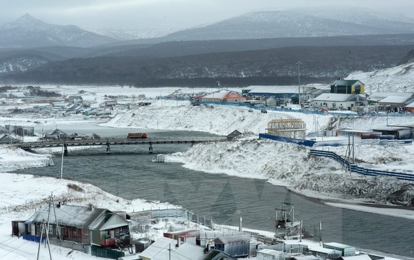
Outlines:
[{"label": "grey rippling river winding through the town under the bridge", "polygon": [[[96,127],[95,124],[82,126],[82,130],[77,130],[78,126],[59,129],[66,133],[87,131],[88,135],[97,133],[111,137],[124,137],[128,131],[139,131]],[[209,135],[154,131],[148,136]],[[154,153],[186,151],[188,147],[188,144],[156,144]],[[89,182],[126,199],[142,198],[181,205],[200,216],[213,217],[218,224],[237,226],[239,217],[243,217],[245,227],[260,230],[274,230],[275,208],[288,202],[295,205],[295,217],[303,219],[304,226],[313,232],[316,240],[319,240],[319,221],[322,221],[322,237],[326,242],[336,241],[414,257],[412,220],[325,206],[264,180],[190,171],[177,163],[152,162],[152,157],[146,145],[112,146],[109,154],[105,147],[83,151],[71,151],[69,147],[63,175]],[[60,158],[53,160],[55,166],[17,173],[57,177],[60,175]]]}]

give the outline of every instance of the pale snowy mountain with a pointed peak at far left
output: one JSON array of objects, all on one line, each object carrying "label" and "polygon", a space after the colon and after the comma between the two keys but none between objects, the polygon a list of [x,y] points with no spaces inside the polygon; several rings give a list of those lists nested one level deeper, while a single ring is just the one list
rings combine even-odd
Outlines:
[{"label": "pale snowy mountain with a pointed peak at far left", "polygon": [[34,19],[30,14],[0,26],[0,48],[44,46],[90,47],[117,40],[94,34],[75,25],[53,25]]}]

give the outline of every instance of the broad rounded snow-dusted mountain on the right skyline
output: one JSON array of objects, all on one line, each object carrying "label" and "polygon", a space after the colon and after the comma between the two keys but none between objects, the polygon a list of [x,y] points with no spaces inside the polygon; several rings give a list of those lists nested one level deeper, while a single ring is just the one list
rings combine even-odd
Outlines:
[{"label": "broad rounded snow-dusted mountain on the right skyline", "polygon": [[[306,11],[306,12],[305,12]],[[168,41],[211,39],[264,39],[309,36],[405,34],[414,21],[385,19],[369,10],[315,9],[250,12],[219,23],[175,32]],[[343,12],[343,14],[342,14]]]}]

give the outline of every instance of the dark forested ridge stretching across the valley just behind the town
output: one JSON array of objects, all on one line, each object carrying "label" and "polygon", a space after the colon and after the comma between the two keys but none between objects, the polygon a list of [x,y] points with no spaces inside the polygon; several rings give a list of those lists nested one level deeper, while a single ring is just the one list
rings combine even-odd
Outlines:
[{"label": "dark forested ridge stretching across the valley just behind the town", "polygon": [[3,83],[110,85],[296,84],[297,61],[303,83],[331,82],[357,70],[392,67],[413,50],[400,46],[281,47],[165,58],[100,56],[55,61],[1,76]]}]

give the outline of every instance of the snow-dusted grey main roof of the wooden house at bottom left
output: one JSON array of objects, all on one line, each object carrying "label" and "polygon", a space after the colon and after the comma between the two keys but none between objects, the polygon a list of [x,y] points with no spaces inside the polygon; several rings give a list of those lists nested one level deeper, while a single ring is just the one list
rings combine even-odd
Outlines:
[{"label": "snow-dusted grey main roof of the wooden house at bottom left", "polygon": [[[36,211],[26,222],[41,222],[48,219],[49,205],[45,205]],[[59,208],[55,207],[56,216],[59,225],[62,226],[75,226],[77,228],[88,228],[88,226],[99,218],[101,215],[105,215],[106,209],[104,208],[90,208],[85,206],[74,205],[61,205]],[[49,215],[50,223],[55,223],[55,214],[53,208],[50,208]]]}]

